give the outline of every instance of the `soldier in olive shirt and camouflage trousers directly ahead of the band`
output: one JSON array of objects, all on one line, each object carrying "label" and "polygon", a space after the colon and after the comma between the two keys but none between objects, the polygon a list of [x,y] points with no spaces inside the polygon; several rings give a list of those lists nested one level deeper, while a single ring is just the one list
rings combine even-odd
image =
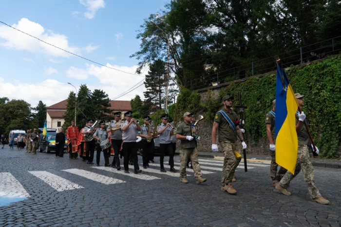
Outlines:
[{"label": "soldier in olive shirt and camouflage trousers directly ahead of the band", "polygon": [[184,121],[181,122],[176,128],[176,139],[181,140],[180,142],[180,181],[187,184],[186,179],[186,163],[188,158],[193,165],[195,182],[197,184],[206,182],[206,178],[202,178],[200,165],[198,161],[198,150],[196,148],[196,141],[192,136],[192,126],[190,123],[191,115],[193,113],[186,112],[184,114]]}]

